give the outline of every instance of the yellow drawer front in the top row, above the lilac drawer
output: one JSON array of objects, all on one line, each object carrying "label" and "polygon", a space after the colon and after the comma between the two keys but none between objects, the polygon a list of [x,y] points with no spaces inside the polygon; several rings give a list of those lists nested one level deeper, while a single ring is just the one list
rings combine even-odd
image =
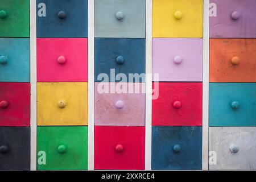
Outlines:
[{"label": "yellow drawer front in the top row, above the lilac drawer", "polygon": [[203,0],[153,0],[152,11],[153,38],[203,37]]}]

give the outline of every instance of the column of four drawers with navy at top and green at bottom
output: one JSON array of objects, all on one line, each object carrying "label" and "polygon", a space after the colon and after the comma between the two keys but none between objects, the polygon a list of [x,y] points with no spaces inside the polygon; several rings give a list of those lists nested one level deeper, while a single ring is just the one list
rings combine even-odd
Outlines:
[{"label": "column of four drawers with navy at top and green at bottom", "polygon": [[37,0],[38,170],[88,168],[88,1]]}]

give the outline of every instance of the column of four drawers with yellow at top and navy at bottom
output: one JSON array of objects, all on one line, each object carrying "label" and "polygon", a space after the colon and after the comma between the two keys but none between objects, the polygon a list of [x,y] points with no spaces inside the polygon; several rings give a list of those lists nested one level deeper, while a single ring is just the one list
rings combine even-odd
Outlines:
[{"label": "column of four drawers with yellow at top and navy at bottom", "polygon": [[152,38],[152,169],[201,169],[203,0],[153,0]]}]

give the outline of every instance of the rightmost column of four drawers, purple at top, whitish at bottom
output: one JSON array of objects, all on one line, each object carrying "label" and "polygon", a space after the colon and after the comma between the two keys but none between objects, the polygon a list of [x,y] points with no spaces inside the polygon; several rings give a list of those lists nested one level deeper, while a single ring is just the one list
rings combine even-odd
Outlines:
[{"label": "rightmost column of four drawers, purple at top, whitish at bottom", "polygon": [[256,2],[210,5],[209,169],[256,169]]}]

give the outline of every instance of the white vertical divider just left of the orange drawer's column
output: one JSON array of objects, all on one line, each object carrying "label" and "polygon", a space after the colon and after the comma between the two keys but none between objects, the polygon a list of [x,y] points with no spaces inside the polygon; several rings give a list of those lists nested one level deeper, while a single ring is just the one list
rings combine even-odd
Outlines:
[{"label": "white vertical divider just left of the orange drawer's column", "polygon": [[203,33],[203,155],[202,169],[208,170],[209,142],[209,0],[204,0]]}]

